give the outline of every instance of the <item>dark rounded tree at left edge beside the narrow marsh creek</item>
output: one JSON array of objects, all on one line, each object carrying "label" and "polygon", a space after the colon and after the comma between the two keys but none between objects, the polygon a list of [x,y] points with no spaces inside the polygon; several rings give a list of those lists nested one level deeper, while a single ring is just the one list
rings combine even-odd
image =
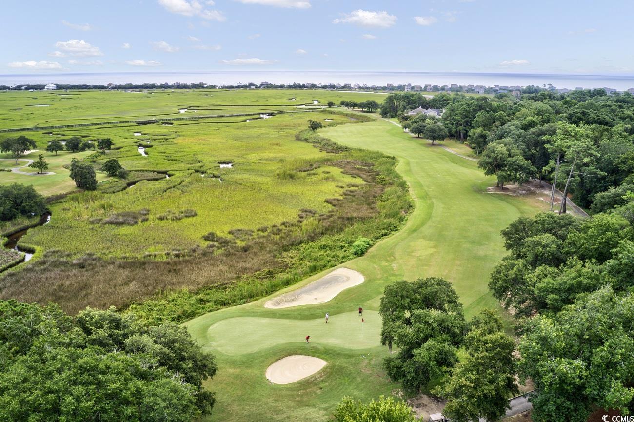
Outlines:
[{"label": "dark rounded tree at left edge beside the narrow marsh creek", "polygon": [[13,220],[20,215],[41,215],[46,211],[46,199],[32,186],[19,183],[0,185],[0,221]]}]

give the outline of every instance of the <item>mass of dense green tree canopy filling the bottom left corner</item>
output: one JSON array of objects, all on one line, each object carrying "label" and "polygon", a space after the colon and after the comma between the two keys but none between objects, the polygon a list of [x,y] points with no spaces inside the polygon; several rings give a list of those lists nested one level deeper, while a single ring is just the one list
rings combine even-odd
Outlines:
[{"label": "mass of dense green tree canopy filling the bottom left corner", "polygon": [[3,421],[191,421],[214,404],[216,363],[174,324],[0,301]]}]

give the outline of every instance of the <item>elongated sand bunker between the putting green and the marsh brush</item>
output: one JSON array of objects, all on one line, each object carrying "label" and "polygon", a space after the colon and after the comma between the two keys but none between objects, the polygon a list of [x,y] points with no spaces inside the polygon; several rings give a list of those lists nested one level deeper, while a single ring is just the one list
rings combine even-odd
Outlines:
[{"label": "elongated sand bunker between the putting green and the marsh brush", "polygon": [[358,271],[337,268],[319,280],[269,300],[264,307],[278,309],[326,303],[348,287],[357,286],[364,281],[365,277]]}]

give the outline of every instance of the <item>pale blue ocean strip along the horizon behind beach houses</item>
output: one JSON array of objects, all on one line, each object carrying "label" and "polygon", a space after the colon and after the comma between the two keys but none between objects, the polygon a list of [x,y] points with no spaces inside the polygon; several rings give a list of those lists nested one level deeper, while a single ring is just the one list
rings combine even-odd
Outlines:
[{"label": "pale blue ocean strip along the horizon behind beach houses", "polygon": [[1,85],[20,84],[133,84],[174,82],[205,82],[213,85],[254,82],[288,84],[386,84],[413,85],[539,85],[552,84],[556,88],[614,88],[624,91],[634,88],[634,75],[566,75],[519,73],[467,72],[332,72],[332,71],[211,71],[211,72],[103,72],[103,73],[47,73],[0,75]]}]

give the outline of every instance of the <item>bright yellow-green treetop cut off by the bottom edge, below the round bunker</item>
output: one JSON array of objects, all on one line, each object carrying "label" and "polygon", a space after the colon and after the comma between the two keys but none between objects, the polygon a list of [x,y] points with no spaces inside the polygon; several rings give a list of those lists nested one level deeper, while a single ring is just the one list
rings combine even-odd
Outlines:
[{"label": "bright yellow-green treetop cut off by the bottom edge, below the round bunker", "polygon": [[403,401],[381,396],[368,404],[346,396],[335,409],[335,422],[418,422],[411,407]]}]

